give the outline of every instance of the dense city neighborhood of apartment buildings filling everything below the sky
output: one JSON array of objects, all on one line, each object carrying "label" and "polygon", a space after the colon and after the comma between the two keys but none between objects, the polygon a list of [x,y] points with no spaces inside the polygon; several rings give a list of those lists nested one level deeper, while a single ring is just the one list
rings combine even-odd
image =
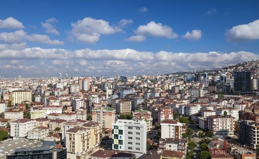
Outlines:
[{"label": "dense city neighborhood of apartment buildings filling everything below the sky", "polygon": [[0,96],[0,159],[30,152],[256,159],[259,152],[259,61],[156,76],[1,78]]}]

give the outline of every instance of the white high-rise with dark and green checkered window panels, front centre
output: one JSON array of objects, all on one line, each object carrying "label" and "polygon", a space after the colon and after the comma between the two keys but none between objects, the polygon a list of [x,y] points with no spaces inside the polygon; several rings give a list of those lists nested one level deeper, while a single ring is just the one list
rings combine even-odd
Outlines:
[{"label": "white high-rise with dark and green checkered window panels, front centre", "polygon": [[112,124],[112,149],[136,154],[146,154],[147,124],[145,120],[118,119]]}]

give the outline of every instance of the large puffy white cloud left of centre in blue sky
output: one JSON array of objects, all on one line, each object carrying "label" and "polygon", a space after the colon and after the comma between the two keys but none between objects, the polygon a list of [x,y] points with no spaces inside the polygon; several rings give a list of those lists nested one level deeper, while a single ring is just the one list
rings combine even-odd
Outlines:
[{"label": "large puffy white cloud left of centre in blue sky", "polygon": [[72,31],[70,39],[78,40],[85,43],[95,43],[100,40],[101,35],[115,34],[122,30],[118,27],[112,27],[109,22],[102,19],[93,19],[86,17],[72,23]]}]

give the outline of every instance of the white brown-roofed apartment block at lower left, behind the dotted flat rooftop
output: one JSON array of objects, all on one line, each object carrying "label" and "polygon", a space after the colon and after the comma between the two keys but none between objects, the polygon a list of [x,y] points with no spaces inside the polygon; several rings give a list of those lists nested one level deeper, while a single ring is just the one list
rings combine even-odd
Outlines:
[{"label": "white brown-roofed apartment block at lower left, behind the dotted flat rooftop", "polygon": [[10,122],[10,136],[14,140],[25,138],[28,131],[36,128],[36,120],[34,119],[19,119]]}]

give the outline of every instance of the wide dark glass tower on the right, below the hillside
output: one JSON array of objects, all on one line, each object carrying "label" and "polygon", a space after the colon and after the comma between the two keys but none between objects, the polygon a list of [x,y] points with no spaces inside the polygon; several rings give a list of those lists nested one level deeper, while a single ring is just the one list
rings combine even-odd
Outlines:
[{"label": "wide dark glass tower on the right, below the hillside", "polygon": [[251,72],[234,72],[234,91],[251,92]]}]

